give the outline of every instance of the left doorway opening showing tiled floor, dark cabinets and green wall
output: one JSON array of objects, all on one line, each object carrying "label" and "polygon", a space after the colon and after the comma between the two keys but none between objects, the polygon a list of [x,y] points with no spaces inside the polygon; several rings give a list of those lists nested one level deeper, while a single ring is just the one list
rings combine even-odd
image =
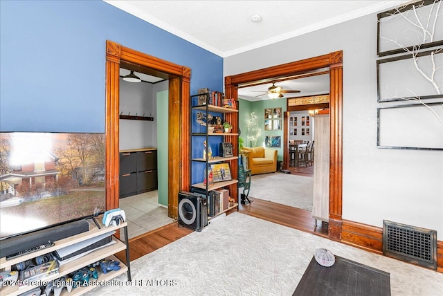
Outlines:
[{"label": "left doorway opening showing tiled floor, dark cabinets and green wall", "polygon": [[119,207],[128,239],[175,221],[168,216],[168,84],[120,66]]}]

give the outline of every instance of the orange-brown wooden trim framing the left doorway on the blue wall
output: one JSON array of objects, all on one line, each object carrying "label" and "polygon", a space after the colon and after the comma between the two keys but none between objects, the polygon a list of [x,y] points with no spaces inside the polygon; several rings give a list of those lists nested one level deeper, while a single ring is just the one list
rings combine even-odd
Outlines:
[{"label": "orange-brown wooden trim framing the left doorway on the blue wall", "polygon": [[177,219],[178,195],[188,190],[190,68],[106,41],[106,208],[118,207],[120,64],[169,80],[168,215]]}]

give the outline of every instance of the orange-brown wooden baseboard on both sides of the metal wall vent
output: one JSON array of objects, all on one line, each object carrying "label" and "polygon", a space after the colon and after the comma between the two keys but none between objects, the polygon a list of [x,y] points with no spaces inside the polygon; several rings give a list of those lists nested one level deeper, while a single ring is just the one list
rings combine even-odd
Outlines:
[{"label": "orange-brown wooden baseboard on both sides of the metal wall vent", "polygon": [[[341,242],[383,254],[383,228],[343,220]],[[443,241],[437,241],[437,271],[443,272]]]}]

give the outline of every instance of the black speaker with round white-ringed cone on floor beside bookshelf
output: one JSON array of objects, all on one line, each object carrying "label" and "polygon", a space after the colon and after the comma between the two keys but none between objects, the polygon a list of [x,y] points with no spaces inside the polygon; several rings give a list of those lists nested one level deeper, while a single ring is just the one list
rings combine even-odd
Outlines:
[{"label": "black speaker with round white-ringed cone on floor beside bookshelf", "polygon": [[195,231],[208,225],[208,199],[201,194],[179,192],[179,225]]}]

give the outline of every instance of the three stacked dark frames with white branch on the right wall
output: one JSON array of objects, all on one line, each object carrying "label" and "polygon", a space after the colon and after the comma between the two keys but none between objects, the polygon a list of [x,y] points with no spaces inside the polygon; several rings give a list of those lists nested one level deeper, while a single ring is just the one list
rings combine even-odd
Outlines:
[{"label": "three stacked dark frames with white branch on the right wall", "polygon": [[442,11],[424,0],[377,15],[377,102],[401,102],[377,108],[379,148],[443,147]]}]

